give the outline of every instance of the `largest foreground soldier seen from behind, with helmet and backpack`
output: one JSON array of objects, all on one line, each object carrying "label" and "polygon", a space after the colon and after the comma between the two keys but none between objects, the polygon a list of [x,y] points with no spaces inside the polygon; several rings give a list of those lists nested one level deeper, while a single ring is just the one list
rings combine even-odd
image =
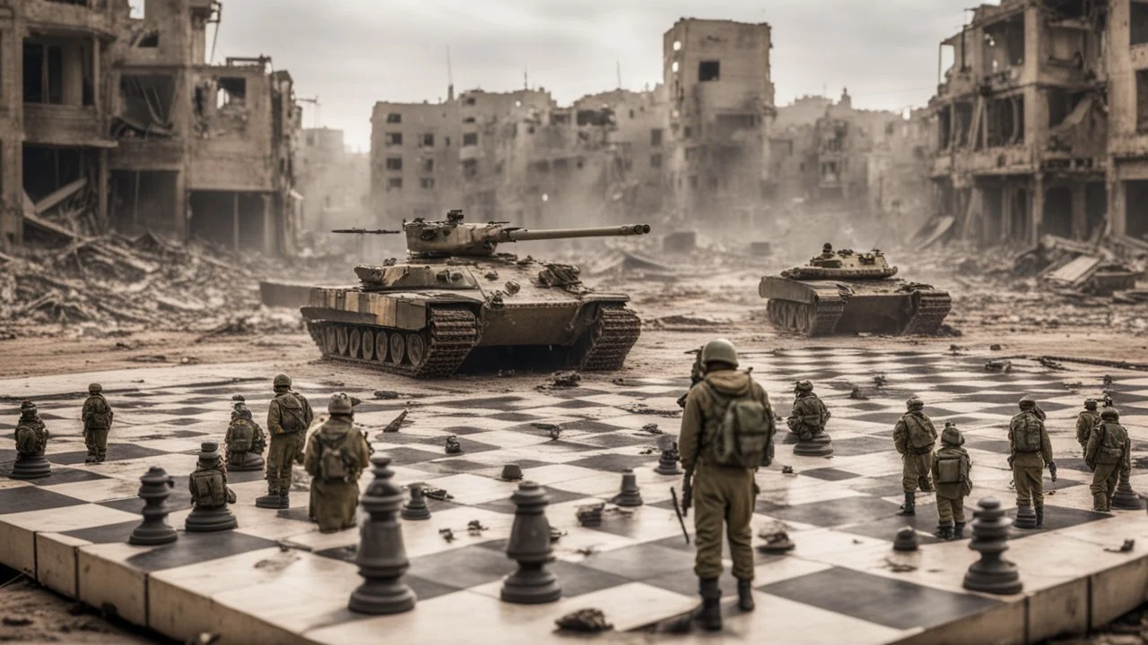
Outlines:
[{"label": "largest foreground soldier seen from behind, with helmet and backpack", "polygon": [[[693,615],[708,630],[721,629],[722,523],[737,578],[738,607],[753,611],[754,472],[768,466],[774,450],[774,413],[769,397],[747,372],[737,371],[737,349],[727,340],[709,341],[701,351],[705,375],[690,390],[678,448],[685,490],[696,483],[697,560],[703,604]],[[697,480],[691,481],[697,473]],[[685,495],[689,508],[691,496]]]}]

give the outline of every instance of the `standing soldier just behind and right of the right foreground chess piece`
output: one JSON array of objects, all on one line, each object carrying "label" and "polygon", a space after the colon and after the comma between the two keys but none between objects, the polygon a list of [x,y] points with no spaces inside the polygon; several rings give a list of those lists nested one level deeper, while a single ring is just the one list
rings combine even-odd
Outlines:
[{"label": "standing soldier just behind and right of the right foreground chess piece", "polygon": [[1021,412],[1008,426],[1009,467],[1016,487],[1017,506],[1032,506],[1037,512],[1037,528],[1045,526],[1045,466],[1056,481],[1053,443],[1041,419],[1037,402],[1024,397]]}]

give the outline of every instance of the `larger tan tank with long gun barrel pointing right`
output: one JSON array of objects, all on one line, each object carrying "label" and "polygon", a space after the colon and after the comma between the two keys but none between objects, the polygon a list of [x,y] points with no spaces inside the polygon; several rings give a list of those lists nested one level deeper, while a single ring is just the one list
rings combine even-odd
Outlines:
[{"label": "larger tan tank with long gun barrel pointing right", "polygon": [[370,232],[405,234],[406,261],[356,266],[358,286],[316,287],[302,313],[324,357],[406,376],[449,376],[464,363],[484,371],[619,370],[642,331],[629,296],[587,288],[576,266],[498,246],[649,232],[645,224],[527,231],[465,223],[452,210],[445,220]]}]

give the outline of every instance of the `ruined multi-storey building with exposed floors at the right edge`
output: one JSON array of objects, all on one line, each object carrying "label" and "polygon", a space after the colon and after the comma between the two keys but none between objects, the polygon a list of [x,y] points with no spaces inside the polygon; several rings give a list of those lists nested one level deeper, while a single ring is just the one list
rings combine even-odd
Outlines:
[{"label": "ruined multi-storey building with exposed floors at the right edge", "polygon": [[1148,2],[982,5],[940,49],[934,210],[959,236],[1148,234]]}]

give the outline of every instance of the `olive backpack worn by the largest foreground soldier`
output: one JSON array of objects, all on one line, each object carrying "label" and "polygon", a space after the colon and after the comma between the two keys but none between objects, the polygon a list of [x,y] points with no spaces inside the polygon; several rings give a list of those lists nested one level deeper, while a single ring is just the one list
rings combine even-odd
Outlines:
[{"label": "olive backpack worn by the largest foreground soldier", "polygon": [[[718,401],[727,399],[708,382],[706,387]],[[774,460],[774,433],[773,412],[752,394],[728,398],[716,432],[706,437],[709,460],[716,466],[768,466]]]}]

